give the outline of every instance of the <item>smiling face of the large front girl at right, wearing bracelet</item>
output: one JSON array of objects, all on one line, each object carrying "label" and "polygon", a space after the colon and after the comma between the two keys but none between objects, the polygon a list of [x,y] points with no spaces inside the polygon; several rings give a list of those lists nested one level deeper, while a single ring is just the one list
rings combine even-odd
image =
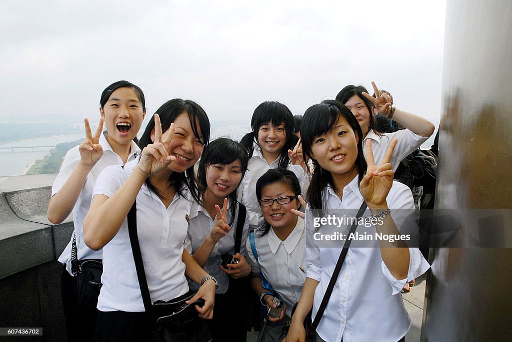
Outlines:
[{"label": "smiling face of the large front girl at right, wearing bracelet", "polygon": [[311,156],[333,176],[353,173],[357,159],[357,138],[343,115],[338,116],[332,130],[313,139]]}]

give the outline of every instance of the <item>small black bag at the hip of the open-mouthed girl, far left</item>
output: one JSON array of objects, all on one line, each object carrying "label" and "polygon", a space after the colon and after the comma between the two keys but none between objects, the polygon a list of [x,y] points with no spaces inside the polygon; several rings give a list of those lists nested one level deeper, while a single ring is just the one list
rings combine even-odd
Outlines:
[{"label": "small black bag at the hip of the open-mouthed girl, far left", "polygon": [[71,272],[76,282],[76,299],[78,305],[95,309],[101,289],[103,262],[101,259],[77,259],[76,236],[73,233],[71,245]]}]

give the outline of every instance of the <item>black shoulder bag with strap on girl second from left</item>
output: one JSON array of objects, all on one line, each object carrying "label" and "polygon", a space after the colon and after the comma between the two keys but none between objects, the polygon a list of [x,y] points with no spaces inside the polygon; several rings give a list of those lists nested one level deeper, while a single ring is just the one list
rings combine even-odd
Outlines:
[{"label": "black shoulder bag with strap on girl second from left", "polygon": [[130,244],[137,270],[142,302],[146,311],[146,320],[151,327],[152,341],[155,342],[208,342],[211,340],[206,323],[198,316],[196,305],[202,306],[204,300],[185,303],[194,297],[189,291],[169,301],[156,301],[151,304],[150,290],[147,287],[144,264],[140,253],[137,235],[137,202],[133,203],[127,216]]}]

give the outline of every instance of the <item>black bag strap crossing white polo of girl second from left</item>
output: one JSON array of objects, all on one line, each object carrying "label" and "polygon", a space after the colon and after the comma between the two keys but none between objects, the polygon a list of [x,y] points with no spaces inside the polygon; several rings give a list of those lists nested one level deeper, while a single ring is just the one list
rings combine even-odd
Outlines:
[{"label": "black bag strap crossing white polo of girl second from left", "polygon": [[151,305],[150,289],[147,287],[146,272],[144,271],[144,264],[142,263],[139,237],[137,235],[137,201],[133,202],[133,206],[128,212],[127,218],[128,234],[130,236],[130,244],[132,245],[133,259],[135,261],[135,269],[137,270],[137,278],[139,279],[142,302],[144,303],[144,310],[147,314],[146,319],[148,324],[150,324],[150,327],[153,327],[156,322],[153,318],[153,307]]}]

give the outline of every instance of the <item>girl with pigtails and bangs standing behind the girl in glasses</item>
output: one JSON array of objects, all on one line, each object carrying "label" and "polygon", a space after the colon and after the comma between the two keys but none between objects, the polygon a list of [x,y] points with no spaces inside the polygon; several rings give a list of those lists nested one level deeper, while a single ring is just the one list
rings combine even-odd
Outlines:
[{"label": "girl with pigtails and bangs standing behind the girl in glasses", "polygon": [[288,150],[293,150],[298,142],[298,137],[293,134],[294,125],[290,109],[280,102],[263,102],[254,109],[252,132],[240,141],[249,153],[249,165],[239,193],[239,200],[247,210],[261,213],[255,195],[256,181],[269,169],[291,170],[302,188],[307,188],[309,179],[305,177],[304,166],[292,165],[288,156]]}]

